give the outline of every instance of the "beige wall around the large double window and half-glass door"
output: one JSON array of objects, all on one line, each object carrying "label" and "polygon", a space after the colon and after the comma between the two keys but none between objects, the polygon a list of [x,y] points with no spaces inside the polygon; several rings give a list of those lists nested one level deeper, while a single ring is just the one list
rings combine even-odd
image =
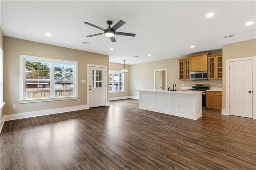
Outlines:
[{"label": "beige wall around the large double window and half-glass door", "polygon": [[[32,55],[54,59],[78,61],[78,100],[62,100],[53,102],[38,102],[19,104],[19,55]],[[12,37],[4,37],[4,114],[22,113],[60,107],[80,106],[87,104],[87,84],[81,80],[87,80],[87,64],[105,65],[109,68],[109,57],[106,55],[90,53],[75,49],[68,49],[54,45],[36,43]],[[107,70],[107,72],[109,69]],[[107,96],[108,101],[108,96]],[[12,108],[16,104],[16,108]]]}]

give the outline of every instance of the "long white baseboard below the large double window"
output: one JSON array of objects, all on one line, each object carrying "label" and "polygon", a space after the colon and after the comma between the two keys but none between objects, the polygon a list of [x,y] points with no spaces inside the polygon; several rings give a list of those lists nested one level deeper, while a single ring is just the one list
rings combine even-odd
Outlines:
[{"label": "long white baseboard below the large double window", "polygon": [[46,110],[16,113],[11,115],[4,115],[2,117],[2,121],[24,119],[28,117],[36,117],[36,116],[42,116],[42,115],[51,115],[56,113],[64,113],[68,111],[76,111],[76,110],[83,110],[83,109],[89,109],[89,107],[87,105],[81,105],[81,106],[62,107],[62,108],[56,108],[56,109],[46,109]]}]

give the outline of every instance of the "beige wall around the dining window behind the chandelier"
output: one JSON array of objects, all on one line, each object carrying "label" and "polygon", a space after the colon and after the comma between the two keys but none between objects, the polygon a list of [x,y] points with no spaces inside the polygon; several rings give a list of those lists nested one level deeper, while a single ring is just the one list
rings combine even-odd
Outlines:
[{"label": "beige wall around the dining window behind the chandelier", "polygon": [[[124,64],[118,64],[118,63],[109,63],[109,69],[110,70],[123,70]],[[130,66],[125,65],[125,69],[128,70],[128,73],[124,74],[124,92],[118,92],[118,93],[110,93],[110,98],[115,97],[122,97],[122,96],[129,96],[129,76],[130,76]]]}]

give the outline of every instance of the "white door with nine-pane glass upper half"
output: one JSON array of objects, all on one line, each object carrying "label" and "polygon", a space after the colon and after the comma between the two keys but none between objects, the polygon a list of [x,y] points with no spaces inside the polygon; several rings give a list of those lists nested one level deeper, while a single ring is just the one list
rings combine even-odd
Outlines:
[{"label": "white door with nine-pane glass upper half", "polygon": [[89,107],[105,106],[105,68],[89,67]]}]

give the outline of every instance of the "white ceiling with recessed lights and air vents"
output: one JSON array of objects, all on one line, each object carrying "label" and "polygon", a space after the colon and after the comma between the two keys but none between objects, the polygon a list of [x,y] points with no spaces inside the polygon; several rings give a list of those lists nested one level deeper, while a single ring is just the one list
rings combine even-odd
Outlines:
[{"label": "white ceiling with recessed lights and air vents", "polygon": [[[2,0],[1,27],[6,36],[105,54],[114,63],[123,63],[125,59],[127,64],[136,64],[253,39],[256,23],[250,26],[245,23],[255,21],[255,8],[255,1]],[[206,18],[209,12],[215,15]],[[102,31],[84,24],[85,21],[106,28],[107,20],[112,20],[113,25],[125,21],[118,31],[136,36],[116,35],[115,43],[104,35],[86,37]],[[47,32],[52,37],[46,36]],[[230,34],[236,37],[223,38]],[[82,41],[91,44],[84,45]],[[134,58],[136,55],[139,57]]]}]

